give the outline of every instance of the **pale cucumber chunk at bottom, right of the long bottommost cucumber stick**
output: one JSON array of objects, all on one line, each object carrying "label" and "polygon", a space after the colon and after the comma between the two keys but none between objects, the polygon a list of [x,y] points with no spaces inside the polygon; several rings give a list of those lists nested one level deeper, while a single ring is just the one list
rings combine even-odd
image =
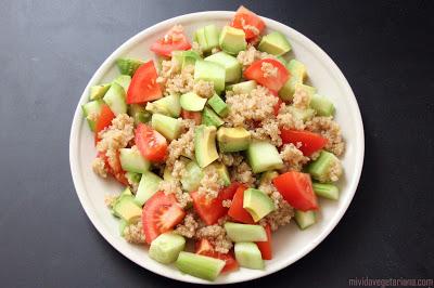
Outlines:
[{"label": "pale cucumber chunk at bottom, right of the long bottommost cucumber stick", "polygon": [[242,267],[264,270],[265,264],[260,250],[255,243],[235,243],[234,248],[237,262]]}]

